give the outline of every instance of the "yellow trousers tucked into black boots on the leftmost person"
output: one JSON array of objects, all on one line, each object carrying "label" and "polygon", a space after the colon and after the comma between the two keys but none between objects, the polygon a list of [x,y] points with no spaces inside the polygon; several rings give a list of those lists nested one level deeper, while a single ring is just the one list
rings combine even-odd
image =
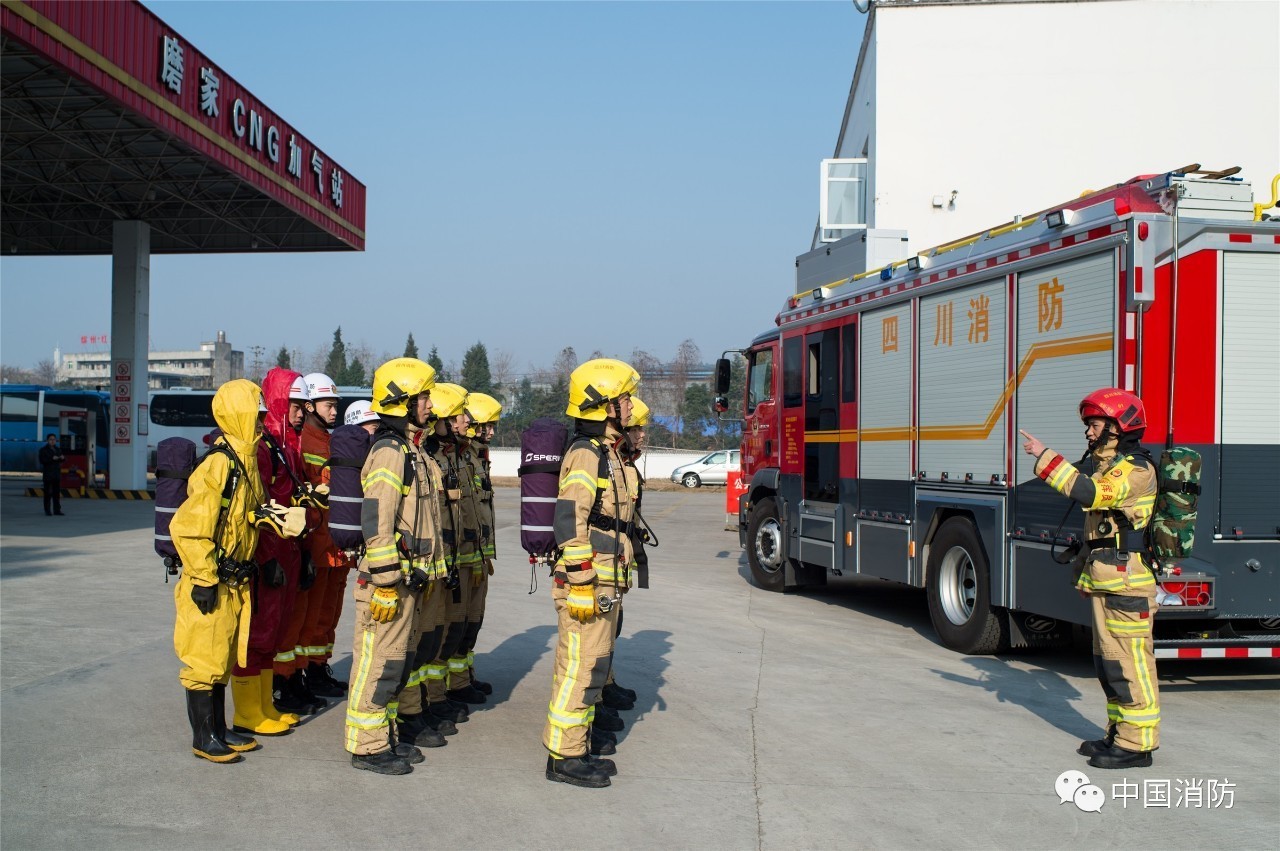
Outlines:
[{"label": "yellow trousers tucked into black boots on the leftmost person", "polygon": [[178,681],[188,691],[210,691],[227,685],[232,665],[243,662],[248,649],[250,591],[218,584],[218,608],[201,614],[191,599],[191,580],[186,575],[173,586],[178,617],[173,627],[173,649],[182,662]]}]

